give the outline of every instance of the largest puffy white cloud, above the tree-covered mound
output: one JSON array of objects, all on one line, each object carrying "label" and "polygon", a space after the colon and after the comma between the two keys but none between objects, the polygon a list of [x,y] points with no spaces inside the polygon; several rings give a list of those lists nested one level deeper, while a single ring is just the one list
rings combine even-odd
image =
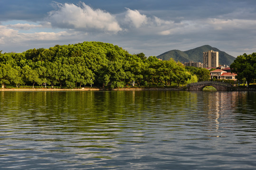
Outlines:
[{"label": "largest puffy white cloud, above the tree-covered mound", "polygon": [[101,9],[93,9],[81,2],[75,4],[58,4],[58,10],[49,12],[49,21],[52,26],[79,30],[101,30],[117,33],[122,28],[114,15]]}]

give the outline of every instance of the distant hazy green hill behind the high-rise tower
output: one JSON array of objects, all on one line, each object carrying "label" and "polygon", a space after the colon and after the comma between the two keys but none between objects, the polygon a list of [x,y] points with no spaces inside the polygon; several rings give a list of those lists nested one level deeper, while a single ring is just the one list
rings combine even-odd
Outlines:
[{"label": "distant hazy green hill behind the high-rise tower", "polygon": [[171,50],[167,51],[165,53],[162,53],[161,55],[157,56],[158,59],[162,60],[168,60],[170,58],[173,58],[175,61],[180,61],[180,62],[189,62],[189,61],[194,61],[194,62],[203,62],[203,52],[213,50],[213,51],[218,51],[218,62],[220,65],[228,65],[236,59],[235,57],[227,54],[224,51],[220,51],[215,47],[211,47],[209,45],[203,45],[201,47],[197,47],[195,49],[191,49],[188,51],[180,51],[180,50]]}]

